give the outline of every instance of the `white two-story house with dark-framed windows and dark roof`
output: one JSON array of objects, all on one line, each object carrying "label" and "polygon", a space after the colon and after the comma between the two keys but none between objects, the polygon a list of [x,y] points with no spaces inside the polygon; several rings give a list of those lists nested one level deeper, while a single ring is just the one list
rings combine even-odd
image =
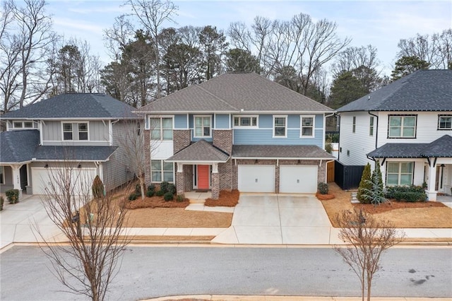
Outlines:
[{"label": "white two-story house with dark-framed windows and dark roof", "polygon": [[452,187],[452,70],[420,70],[338,109],[339,161],[379,160],[386,185]]}]

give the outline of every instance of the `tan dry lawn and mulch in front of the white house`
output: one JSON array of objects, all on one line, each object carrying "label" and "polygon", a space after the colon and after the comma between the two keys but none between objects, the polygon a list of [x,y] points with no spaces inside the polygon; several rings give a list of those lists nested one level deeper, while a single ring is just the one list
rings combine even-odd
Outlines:
[{"label": "tan dry lawn and mulch in front of the white house", "polygon": [[340,211],[350,210],[352,206],[362,206],[364,211],[371,213],[376,219],[389,220],[396,228],[452,228],[452,208],[443,203],[388,201],[379,206],[352,204],[350,191],[343,191],[335,183],[329,183],[329,186],[335,199],[321,202],[333,227],[338,227],[334,217]]}]

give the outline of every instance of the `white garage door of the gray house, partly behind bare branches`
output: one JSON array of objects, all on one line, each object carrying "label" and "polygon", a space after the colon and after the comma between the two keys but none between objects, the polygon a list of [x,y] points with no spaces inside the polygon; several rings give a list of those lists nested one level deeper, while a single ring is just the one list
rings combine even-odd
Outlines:
[{"label": "white garage door of the gray house, partly behind bare branches", "polygon": [[[31,179],[33,194],[46,194],[44,189],[49,187],[51,179],[54,179],[54,177],[58,177],[59,175],[63,174],[61,173],[61,170],[57,168],[32,167]],[[91,192],[91,186],[93,185],[95,176],[95,168],[74,168],[70,177],[71,180],[74,181],[74,194],[81,194],[82,191]],[[52,191],[49,192],[52,193]]]}]

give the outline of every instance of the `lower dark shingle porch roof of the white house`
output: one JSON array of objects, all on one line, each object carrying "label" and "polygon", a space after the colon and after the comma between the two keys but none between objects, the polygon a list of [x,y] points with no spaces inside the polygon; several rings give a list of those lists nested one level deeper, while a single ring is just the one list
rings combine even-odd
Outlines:
[{"label": "lower dark shingle porch roof of the white house", "polygon": [[371,158],[452,158],[452,136],[432,143],[386,143],[367,154]]}]

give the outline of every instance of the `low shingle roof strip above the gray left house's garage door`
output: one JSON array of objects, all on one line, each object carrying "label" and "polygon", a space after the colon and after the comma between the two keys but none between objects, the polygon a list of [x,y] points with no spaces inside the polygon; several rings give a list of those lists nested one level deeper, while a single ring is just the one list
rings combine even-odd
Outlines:
[{"label": "low shingle roof strip above the gray left house's garage door", "polygon": [[117,146],[38,146],[36,160],[106,161]]}]

